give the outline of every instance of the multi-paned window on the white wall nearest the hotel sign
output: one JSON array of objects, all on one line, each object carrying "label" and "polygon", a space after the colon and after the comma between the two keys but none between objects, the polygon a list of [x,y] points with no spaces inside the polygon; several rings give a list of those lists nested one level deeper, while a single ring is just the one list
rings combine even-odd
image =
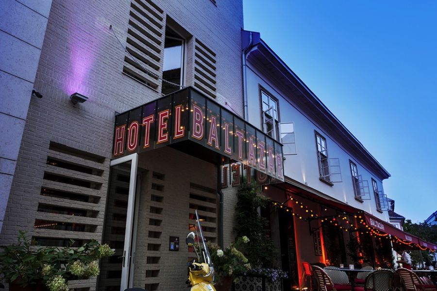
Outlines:
[{"label": "multi-paned window on the white wall nearest the hotel sign", "polygon": [[278,140],[278,100],[261,90],[261,102],[263,105],[262,118],[264,132],[275,140]]}]

